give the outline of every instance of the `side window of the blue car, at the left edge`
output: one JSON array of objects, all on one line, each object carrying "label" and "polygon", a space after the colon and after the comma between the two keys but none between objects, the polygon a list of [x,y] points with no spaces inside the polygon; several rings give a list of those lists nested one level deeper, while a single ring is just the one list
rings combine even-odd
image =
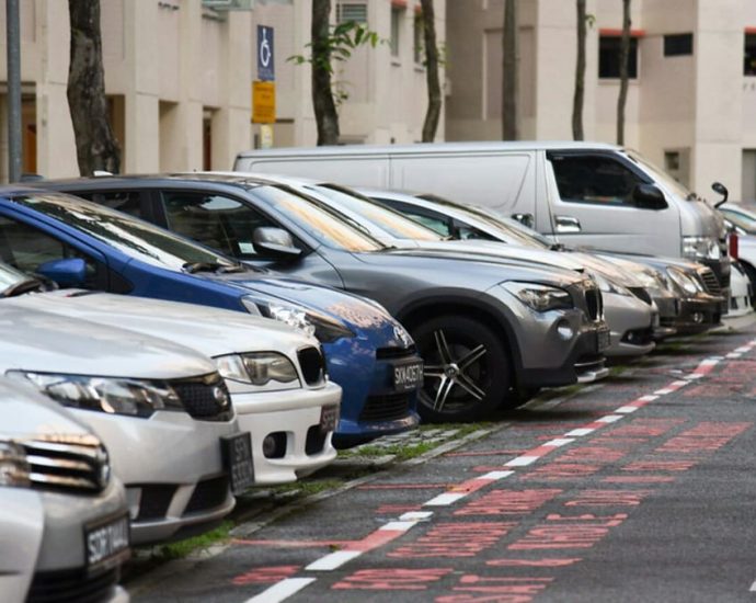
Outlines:
[{"label": "side window of the blue car, at the left edge", "polygon": [[23,272],[37,272],[42,264],[55,260],[81,258],[87,264],[84,286],[98,287],[99,262],[33,226],[4,216],[0,216],[0,257]]}]

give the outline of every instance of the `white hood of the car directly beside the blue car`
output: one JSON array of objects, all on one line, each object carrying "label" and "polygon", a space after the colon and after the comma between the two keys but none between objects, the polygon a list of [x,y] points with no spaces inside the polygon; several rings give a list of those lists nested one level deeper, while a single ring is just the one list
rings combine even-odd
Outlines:
[{"label": "white hood of the car directly beside the blue car", "polygon": [[206,356],[260,351],[296,354],[305,345],[318,345],[314,338],[268,318],[162,299],[65,289],[5,303],[165,338]]}]

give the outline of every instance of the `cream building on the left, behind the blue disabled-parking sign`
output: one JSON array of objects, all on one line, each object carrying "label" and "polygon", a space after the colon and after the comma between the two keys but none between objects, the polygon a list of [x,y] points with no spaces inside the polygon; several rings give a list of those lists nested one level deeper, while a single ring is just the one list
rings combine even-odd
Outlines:
[{"label": "cream building on the left, behind the blue disabled-parking sign", "polygon": [[[426,92],[422,58],[415,52],[419,5],[420,0],[333,2],[334,23],[360,20],[381,41],[337,65],[345,143],[420,139]],[[122,146],[123,172],[228,170],[237,152],[263,143],[252,120],[257,25],[275,33],[272,143],[314,145],[310,69],[287,60],[307,52],[309,0],[101,0],[101,10],[105,91]],[[4,16],[0,1],[2,31]],[[25,172],[50,178],[79,173],[66,98],[69,39],[67,2],[21,2]],[[3,43],[0,81],[7,80],[5,65]],[[0,180],[7,181],[4,86],[0,92]]]}]

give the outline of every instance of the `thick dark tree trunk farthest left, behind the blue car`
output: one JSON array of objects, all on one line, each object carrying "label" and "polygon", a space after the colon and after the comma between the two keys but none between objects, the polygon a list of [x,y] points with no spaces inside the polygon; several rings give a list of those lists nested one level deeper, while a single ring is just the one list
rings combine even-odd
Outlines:
[{"label": "thick dark tree trunk farthest left, behind the blue car", "polygon": [[102,67],[100,0],[68,0],[71,29],[68,109],[73,123],[81,175],[95,170],[117,173],[121,148],[107,118]]}]

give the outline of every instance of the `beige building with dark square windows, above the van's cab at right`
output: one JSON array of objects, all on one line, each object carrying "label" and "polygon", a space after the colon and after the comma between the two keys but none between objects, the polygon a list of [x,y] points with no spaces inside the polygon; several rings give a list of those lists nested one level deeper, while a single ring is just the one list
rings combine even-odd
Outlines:
[{"label": "beige building with dark square windows, above the van's cab at right", "polygon": [[[501,138],[504,0],[447,1],[446,137]],[[518,0],[518,129],[572,139],[576,10]],[[616,141],[619,0],[587,0],[586,140]],[[702,195],[756,200],[756,3],[632,0],[625,144]],[[715,196],[715,195],[714,195]]]}]

